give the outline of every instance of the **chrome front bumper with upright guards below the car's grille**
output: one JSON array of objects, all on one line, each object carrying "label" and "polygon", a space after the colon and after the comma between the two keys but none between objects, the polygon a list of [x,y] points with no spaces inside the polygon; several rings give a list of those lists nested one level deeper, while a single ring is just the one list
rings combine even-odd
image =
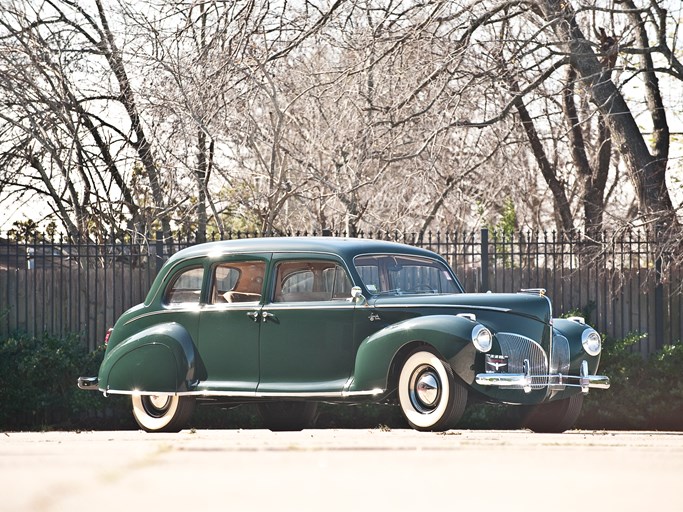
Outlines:
[{"label": "chrome front bumper with upright guards below the car's grille", "polygon": [[532,375],[531,365],[528,360],[524,360],[524,373],[479,373],[475,381],[480,386],[495,386],[506,389],[523,389],[525,393],[530,393],[533,389],[545,387],[551,389],[563,389],[569,387],[580,387],[583,393],[588,393],[591,388],[608,389],[610,386],[609,377],[604,375],[589,375],[588,362],[582,361],[580,375]]}]

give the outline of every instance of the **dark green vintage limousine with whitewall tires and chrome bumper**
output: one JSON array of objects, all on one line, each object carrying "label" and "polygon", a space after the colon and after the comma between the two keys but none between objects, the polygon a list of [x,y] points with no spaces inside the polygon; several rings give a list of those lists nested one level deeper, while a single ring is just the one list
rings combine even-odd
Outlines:
[{"label": "dark green vintage limousine with whitewall tires and chrome bumper", "polygon": [[398,243],[260,238],[184,249],[109,331],[82,389],[132,399],[146,431],[189,425],[198,402],[258,404],[273,430],[313,425],[320,402],[400,406],[417,430],[476,401],[561,432],[597,375],[601,337],[553,318],[544,291],[464,293],[439,255]]}]

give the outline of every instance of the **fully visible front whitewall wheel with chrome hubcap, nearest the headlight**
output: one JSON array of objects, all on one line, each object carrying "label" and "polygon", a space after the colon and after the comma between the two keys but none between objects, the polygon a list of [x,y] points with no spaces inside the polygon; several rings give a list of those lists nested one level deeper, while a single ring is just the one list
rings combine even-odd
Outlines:
[{"label": "fully visible front whitewall wheel with chrome hubcap, nearest the headlight", "polygon": [[440,432],[455,427],[462,417],[467,389],[446,361],[430,350],[419,349],[401,367],[398,399],[412,428]]}]

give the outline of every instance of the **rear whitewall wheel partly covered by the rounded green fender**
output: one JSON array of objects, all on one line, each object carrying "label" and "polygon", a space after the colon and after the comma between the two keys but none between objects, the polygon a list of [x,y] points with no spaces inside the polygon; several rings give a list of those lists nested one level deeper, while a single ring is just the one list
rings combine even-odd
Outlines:
[{"label": "rear whitewall wheel partly covered by the rounded green fender", "polygon": [[187,426],[195,399],[178,395],[133,395],[133,417],[147,432],[180,432]]}]

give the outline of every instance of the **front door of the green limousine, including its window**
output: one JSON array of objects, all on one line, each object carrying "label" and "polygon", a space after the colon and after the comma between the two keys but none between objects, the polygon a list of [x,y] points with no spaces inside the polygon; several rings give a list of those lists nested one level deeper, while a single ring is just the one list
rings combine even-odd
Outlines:
[{"label": "front door of the green limousine, including its window", "polygon": [[274,255],[262,311],[259,393],[334,394],[355,361],[352,283],[333,257]]}]

